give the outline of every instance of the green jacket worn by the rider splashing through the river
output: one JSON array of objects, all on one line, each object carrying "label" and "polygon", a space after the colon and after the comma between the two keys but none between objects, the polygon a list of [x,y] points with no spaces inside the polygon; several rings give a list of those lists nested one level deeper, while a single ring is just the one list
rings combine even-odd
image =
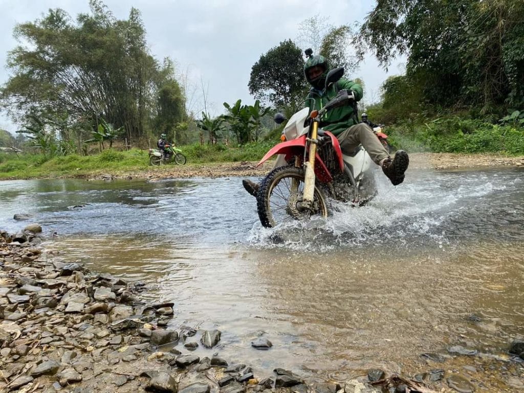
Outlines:
[{"label": "green jacket worn by the rider splashing through the river", "polygon": [[[328,86],[325,91],[319,91],[311,89],[309,91],[306,105],[309,106],[310,112],[313,110],[321,110],[328,102],[333,100],[336,94],[343,90],[353,91],[355,94],[355,101],[362,99],[362,86],[353,81],[341,78],[339,81],[332,83]],[[313,99],[313,100],[311,100]],[[358,124],[357,113],[355,112],[355,106],[349,104],[345,106],[339,106],[333,108],[328,113],[325,113],[322,117],[321,127],[327,131],[330,131],[334,135],[339,135],[348,127]]]}]

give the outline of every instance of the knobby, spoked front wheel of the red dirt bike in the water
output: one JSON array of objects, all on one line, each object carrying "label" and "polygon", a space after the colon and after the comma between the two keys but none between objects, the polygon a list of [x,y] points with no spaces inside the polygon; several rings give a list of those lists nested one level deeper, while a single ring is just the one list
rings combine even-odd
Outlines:
[{"label": "knobby, spoked front wheel of the red dirt bike in the water", "polygon": [[303,220],[312,215],[328,216],[328,204],[322,190],[315,185],[312,210],[300,208],[304,190],[304,171],[297,167],[272,170],[260,184],[257,210],[260,223],[266,228],[283,222]]}]

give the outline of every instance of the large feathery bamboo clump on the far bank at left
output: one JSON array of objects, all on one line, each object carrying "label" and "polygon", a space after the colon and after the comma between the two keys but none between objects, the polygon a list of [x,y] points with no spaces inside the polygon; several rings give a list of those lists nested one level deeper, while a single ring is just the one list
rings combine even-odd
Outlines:
[{"label": "large feathery bamboo clump on the far bank at left", "polygon": [[172,78],[159,82],[162,69],[149,54],[140,12],[132,8],[128,19],[118,20],[100,0],[91,0],[90,9],[76,22],[64,10],[51,9],[16,26],[20,45],[8,55],[12,76],[1,91],[4,105],[15,116],[30,108],[42,116],[67,114],[92,130],[104,119],[123,126],[135,142],[156,110],[172,124],[172,114],[159,102],[176,95],[177,86]]}]

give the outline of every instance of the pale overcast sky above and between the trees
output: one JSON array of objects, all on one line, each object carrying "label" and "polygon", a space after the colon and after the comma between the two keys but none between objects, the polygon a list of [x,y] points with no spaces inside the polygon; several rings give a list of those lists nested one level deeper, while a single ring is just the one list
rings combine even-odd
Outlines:
[{"label": "pale overcast sky above and between the trees", "polygon": [[[189,71],[191,84],[198,85],[193,111],[202,110],[201,80],[209,85],[208,106],[213,115],[223,113],[222,103],[242,99],[252,104],[247,83],[252,65],[260,55],[286,39],[296,40],[299,24],[312,16],[329,18],[334,26],[362,23],[374,0],[105,0],[114,16],[127,19],[131,7],[142,14],[151,53],[161,60],[170,57],[183,72]],[[34,21],[49,8],[62,8],[73,19],[89,12],[89,0],[0,0],[0,83],[9,77],[7,52],[16,46],[13,28]],[[305,48],[302,48],[305,49]],[[368,98],[379,98],[379,88],[391,74],[401,71],[400,61],[381,69],[368,56],[354,75],[362,78]],[[0,128],[14,132],[17,126],[5,113]]]}]

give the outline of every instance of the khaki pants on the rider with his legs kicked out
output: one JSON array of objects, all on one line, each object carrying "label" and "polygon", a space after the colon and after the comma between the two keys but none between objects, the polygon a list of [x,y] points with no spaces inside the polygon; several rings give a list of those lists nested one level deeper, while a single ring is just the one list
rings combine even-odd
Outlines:
[{"label": "khaki pants on the rider with his legs kicked out", "polygon": [[382,146],[373,130],[364,123],[356,124],[340,133],[337,137],[340,142],[340,148],[343,154],[352,154],[358,145],[364,146],[364,149],[369,154],[369,157],[377,165],[380,160],[389,157],[388,152]]}]

